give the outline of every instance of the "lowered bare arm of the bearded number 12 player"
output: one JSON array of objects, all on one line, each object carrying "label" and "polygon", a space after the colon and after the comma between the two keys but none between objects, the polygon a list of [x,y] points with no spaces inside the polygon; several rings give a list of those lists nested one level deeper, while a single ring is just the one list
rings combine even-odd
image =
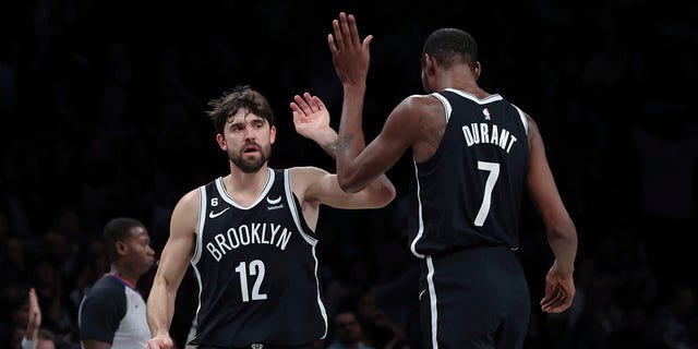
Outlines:
[{"label": "lowered bare arm of the bearded number 12 player", "polygon": [[147,349],[171,349],[174,346],[169,329],[174,314],[177,289],[194,251],[198,202],[198,190],[193,190],[177,203],[172,212],[170,237],[163,249],[146,306],[148,326],[153,334]]}]

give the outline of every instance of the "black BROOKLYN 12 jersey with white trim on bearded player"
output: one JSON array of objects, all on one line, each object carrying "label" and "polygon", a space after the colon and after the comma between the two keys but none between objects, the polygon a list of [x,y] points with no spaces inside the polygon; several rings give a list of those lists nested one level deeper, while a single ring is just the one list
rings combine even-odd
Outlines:
[{"label": "black BROOKLYN 12 jersey with white trim on bearded player", "polygon": [[327,334],[315,245],[290,171],[269,169],[249,207],[222,178],[201,186],[196,249],[196,332],[202,347],[312,344]]}]

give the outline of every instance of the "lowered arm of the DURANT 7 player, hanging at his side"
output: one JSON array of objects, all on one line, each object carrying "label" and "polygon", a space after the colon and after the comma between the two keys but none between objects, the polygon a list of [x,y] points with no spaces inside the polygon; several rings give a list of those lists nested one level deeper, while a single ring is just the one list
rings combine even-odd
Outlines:
[{"label": "lowered arm of the DURANT 7 player, hanging at his side", "polygon": [[530,117],[528,123],[531,154],[528,190],[543,219],[547,243],[555,255],[555,262],[545,277],[545,296],[541,300],[541,309],[549,313],[559,313],[567,310],[575,298],[573,273],[577,255],[577,230],[557,192],[538,125]]}]

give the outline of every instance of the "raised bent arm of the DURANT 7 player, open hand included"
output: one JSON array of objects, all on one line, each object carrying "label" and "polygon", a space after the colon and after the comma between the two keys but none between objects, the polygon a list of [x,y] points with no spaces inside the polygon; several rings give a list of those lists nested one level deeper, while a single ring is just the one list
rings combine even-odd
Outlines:
[{"label": "raised bent arm of the DURANT 7 player, open hand included", "polygon": [[423,124],[423,108],[430,103],[420,97],[406,98],[390,112],[381,133],[365,145],[361,118],[373,37],[369,35],[360,41],[354,16],[344,12],[333,21],[333,29],[327,43],[344,86],[337,178],[341,190],[356,193],[387,171],[412,145]]}]

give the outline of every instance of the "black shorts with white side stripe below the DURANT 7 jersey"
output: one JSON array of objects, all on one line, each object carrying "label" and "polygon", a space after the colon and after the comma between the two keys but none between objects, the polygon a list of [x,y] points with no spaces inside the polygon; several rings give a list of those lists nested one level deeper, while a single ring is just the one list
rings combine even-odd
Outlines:
[{"label": "black shorts with white side stripe below the DURANT 7 jersey", "polygon": [[426,256],[420,314],[425,348],[522,348],[531,300],[518,257],[506,246]]}]

